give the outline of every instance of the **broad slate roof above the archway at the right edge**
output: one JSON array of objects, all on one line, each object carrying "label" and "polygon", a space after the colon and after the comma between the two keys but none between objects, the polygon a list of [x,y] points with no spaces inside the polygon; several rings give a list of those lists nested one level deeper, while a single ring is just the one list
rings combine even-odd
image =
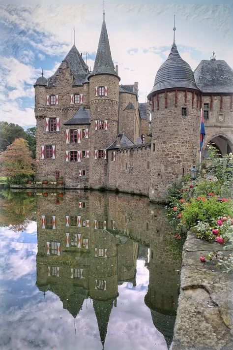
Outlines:
[{"label": "broad slate roof above the archway at the right edge", "polygon": [[224,60],[202,60],[194,77],[203,93],[233,93],[233,69]]}]

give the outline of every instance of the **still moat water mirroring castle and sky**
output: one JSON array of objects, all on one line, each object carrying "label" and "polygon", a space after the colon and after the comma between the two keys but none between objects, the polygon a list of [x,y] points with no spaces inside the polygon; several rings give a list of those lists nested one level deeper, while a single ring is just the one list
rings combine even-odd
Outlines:
[{"label": "still moat water mirroring castle and sky", "polygon": [[2,190],[0,207],[0,349],[170,348],[183,242],[163,206]]}]

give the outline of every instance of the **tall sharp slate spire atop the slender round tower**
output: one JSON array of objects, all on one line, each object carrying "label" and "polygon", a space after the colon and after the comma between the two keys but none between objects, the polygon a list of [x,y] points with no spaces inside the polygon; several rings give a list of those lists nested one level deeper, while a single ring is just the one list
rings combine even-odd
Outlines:
[{"label": "tall sharp slate spire atop the slender round tower", "polygon": [[[114,69],[105,19],[103,19],[94,68],[89,77],[96,74],[111,74],[118,77]],[[119,77],[118,79],[120,80]]]}]

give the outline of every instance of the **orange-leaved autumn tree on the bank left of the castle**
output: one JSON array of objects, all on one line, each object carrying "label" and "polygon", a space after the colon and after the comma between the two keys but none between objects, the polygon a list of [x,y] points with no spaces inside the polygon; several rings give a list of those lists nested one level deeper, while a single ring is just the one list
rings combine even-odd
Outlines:
[{"label": "orange-leaved autumn tree on the bank left of the castle", "polygon": [[24,183],[34,175],[35,160],[31,158],[28,142],[17,138],[0,154],[0,176],[10,183]]}]

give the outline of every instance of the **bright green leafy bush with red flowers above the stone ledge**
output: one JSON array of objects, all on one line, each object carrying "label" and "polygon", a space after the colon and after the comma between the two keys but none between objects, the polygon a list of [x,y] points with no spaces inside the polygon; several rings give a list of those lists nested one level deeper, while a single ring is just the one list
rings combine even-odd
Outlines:
[{"label": "bright green leafy bush with red flowers above the stone ledge", "polygon": [[207,221],[211,219],[217,219],[223,216],[233,215],[233,201],[221,202],[216,197],[192,198],[190,204],[184,204],[182,211],[182,221],[187,229],[195,226],[198,222]]}]

